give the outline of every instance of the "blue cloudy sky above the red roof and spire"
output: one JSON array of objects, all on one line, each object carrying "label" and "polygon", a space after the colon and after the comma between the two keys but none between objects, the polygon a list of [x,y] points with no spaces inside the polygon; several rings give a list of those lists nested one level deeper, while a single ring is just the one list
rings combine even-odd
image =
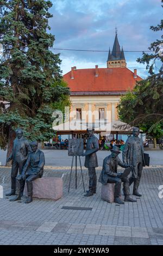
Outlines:
[{"label": "blue cloudy sky above the red roof and spire", "polygon": [[[51,0],[53,18],[49,20],[51,33],[55,35],[54,48],[81,50],[112,50],[115,27],[120,46],[124,51],[145,51],[161,32],[149,27],[162,19],[160,0]],[[71,67],[106,68],[108,52],[60,52],[61,69],[65,74]],[[124,52],[127,67],[137,68],[137,74],[145,78],[148,73],[143,64],[136,62],[141,52]]]}]

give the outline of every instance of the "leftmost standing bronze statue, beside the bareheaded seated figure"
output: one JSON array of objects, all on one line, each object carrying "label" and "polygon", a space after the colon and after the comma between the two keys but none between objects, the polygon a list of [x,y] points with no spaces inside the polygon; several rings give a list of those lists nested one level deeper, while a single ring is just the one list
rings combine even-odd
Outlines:
[{"label": "leftmost standing bronze statue, beside the bareheaded seated figure", "polygon": [[[11,192],[8,192],[7,196],[15,195],[16,190],[16,176],[19,170],[19,173],[22,173],[22,169],[24,164],[26,163],[29,152],[31,151],[29,142],[27,139],[23,138],[23,130],[16,130],[16,139],[14,140],[14,145],[12,148],[12,152],[7,159],[7,162],[12,160],[12,168],[11,168]],[[23,195],[25,182],[21,184],[21,195]]]}]

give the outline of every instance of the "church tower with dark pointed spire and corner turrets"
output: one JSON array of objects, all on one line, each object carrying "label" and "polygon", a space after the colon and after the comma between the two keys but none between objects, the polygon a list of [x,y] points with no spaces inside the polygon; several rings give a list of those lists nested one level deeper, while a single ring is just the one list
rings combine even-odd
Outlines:
[{"label": "church tower with dark pointed spire and corner turrets", "polygon": [[109,48],[107,68],[124,68],[124,67],[126,68],[126,59],[124,57],[123,47],[122,47],[122,50],[120,48],[120,44],[118,42],[118,37],[117,37],[117,29],[116,29],[116,35],[115,35],[114,45],[112,47],[112,52],[110,52],[110,48]]}]

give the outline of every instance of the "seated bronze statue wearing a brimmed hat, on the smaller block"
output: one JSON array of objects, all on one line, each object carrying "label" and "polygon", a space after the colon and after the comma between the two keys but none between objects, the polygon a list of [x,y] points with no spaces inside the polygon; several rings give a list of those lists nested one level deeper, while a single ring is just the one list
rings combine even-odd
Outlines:
[{"label": "seated bronze statue wearing a brimmed hat, on the smaller block", "polygon": [[[136,202],[136,200],[129,197],[130,188],[129,188],[129,178],[127,177],[132,166],[126,163],[122,163],[118,154],[120,154],[120,149],[117,146],[113,146],[111,149],[111,154],[108,157],[105,157],[103,161],[103,169],[101,175],[99,176],[99,182],[102,184],[115,183],[115,193],[114,201],[117,204],[124,204],[121,200],[121,182],[123,182],[124,187],[124,201],[127,202]],[[127,168],[124,172],[117,173],[117,165],[120,165],[123,168]]]}]

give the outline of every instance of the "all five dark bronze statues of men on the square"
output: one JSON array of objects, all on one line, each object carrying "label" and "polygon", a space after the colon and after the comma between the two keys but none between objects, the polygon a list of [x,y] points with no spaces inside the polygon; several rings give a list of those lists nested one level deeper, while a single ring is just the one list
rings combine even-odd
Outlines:
[{"label": "all five dark bronze statues of men on the square", "polygon": [[[98,166],[96,152],[99,150],[98,139],[93,134],[93,129],[87,129],[86,151],[82,154],[85,156],[85,167],[89,170],[89,190],[84,195],[91,197],[96,194],[97,176],[96,167]],[[114,201],[118,204],[124,204],[121,200],[121,183],[123,182],[124,201],[136,202],[130,198],[130,185],[134,183],[133,195],[141,197],[138,192],[140,178],[143,166],[146,165],[143,141],[139,138],[139,128],[133,128],[133,136],[130,136],[122,151],[123,162],[118,158],[120,149],[113,146],[111,154],[103,160],[103,168],[99,176],[99,182],[102,184],[115,183]],[[11,168],[11,191],[7,196],[12,196],[10,201],[20,200],[23,195],[25,182],[27,183],[28,197],[25,203],[31,203],[33,200],[33,184],[36,178],[43,175],[43,166],[45,165],[45,157],[41,150],[37,148],[37,142],[28,142],[23,137],[23,130],[16,130],[16,139],[12,152],[7,161],[12,160]],[[117,166],[126,168],[124,172],[117,172]],[[19,170],[19,175],[18,174]],[[131,172],[131,176],[129,173]]]}]

